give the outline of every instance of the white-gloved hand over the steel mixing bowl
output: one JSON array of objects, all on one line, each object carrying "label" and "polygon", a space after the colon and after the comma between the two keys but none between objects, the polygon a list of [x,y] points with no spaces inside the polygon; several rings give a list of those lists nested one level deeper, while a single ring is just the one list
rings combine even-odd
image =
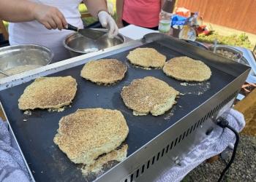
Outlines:
[{"label": "white-gloved hand over the steel mixing bowl", "polygon": [[102,24],[102,27],[109,30],[108,37],[113,39],[118,34],[118,27],[115,20],[108,14],[108,12],[101,11],[98,14],[99,22]]}]

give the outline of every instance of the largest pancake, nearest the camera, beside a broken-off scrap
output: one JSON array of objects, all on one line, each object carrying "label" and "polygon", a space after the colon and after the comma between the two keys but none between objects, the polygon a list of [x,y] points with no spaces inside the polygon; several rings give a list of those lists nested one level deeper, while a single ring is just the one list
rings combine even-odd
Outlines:
[{"label": "largest pancake, nearest the camera, beside a broken-off scrap", "polygon": [[120,111],[86,108],[62,117],[57,131],[53,141],[72,162],[94,165],[99,155],[121,145],[129,128]]}]

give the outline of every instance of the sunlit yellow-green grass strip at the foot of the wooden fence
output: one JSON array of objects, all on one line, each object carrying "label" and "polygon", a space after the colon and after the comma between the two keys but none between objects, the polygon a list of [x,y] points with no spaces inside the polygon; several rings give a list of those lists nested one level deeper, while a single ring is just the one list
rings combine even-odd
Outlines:
[{"label": "sunlit yellow-green grass strip at the foot of the wooden fence", "polygon": [[227,44],[227,45],[234,45],[240,47],[246,47],[252,49],[253,45],[246,36],[246,33],[241,33],[241,35],[232,34],[230,36],[222,36],[219,33],[214,32],[207,36],[200,34],[197,36],[196,41],[200,41],[203,43],[214,44],[214,39],[218,39],[218,44]]}]

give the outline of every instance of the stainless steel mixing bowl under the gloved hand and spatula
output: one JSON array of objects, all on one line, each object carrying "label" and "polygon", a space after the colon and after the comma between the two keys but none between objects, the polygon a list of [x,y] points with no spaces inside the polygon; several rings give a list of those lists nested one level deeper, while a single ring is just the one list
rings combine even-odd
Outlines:
[{"label": "stainless steel mixing bowl under the gloved hand and spatula", "polygon": [[106,29],[98,28],[97,30],[105,31],[106,34],[99,37],[96,41],[89,39],[86,36],[82,36],[80,33],[71,33],[63,41],[64,47],[69,50],[72,57],[83,55],[98,50],[102,50],[108,47],[113,47],[118,44],[123,44],[126,40],[121,33],[118,33],[113,39],[108,38],[108,32]]}]

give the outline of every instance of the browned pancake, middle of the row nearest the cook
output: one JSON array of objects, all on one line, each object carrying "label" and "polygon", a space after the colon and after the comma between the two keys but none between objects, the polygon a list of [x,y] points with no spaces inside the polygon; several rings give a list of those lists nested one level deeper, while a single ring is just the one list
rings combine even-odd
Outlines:
[{"label": "browned pancake, middle of the row nearest the cook", "polygon": [[116,59],[92,60],[83,66],[81,76],[97,84],[112,84],[124,78],[127,66]]}]

